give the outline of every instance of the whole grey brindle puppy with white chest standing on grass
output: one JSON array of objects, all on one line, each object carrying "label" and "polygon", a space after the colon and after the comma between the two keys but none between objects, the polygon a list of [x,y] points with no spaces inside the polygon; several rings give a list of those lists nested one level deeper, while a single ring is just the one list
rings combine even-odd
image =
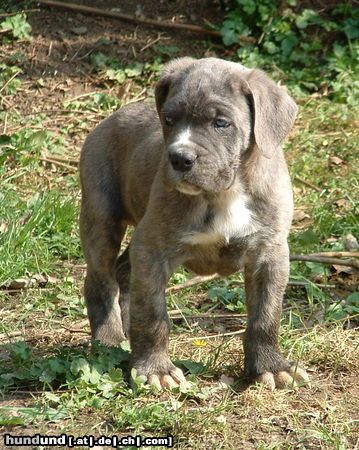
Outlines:
[{"label": "whole grey brindle puppy with white chest standing on grass", "polygon": [[[244,268],[247,376],[272,389],[308,382],[278,345],[293,209],[281,143],[296,104],[262,71],[216,58],[170,62],[155,94],[157,111],[122,108],[82,151],[93,338],[129,337],[132,367],[149,383],[185,383],[168,356],[169,277],[179,265],[201,275]],[[135,232],[119,256],[128,225]]]}]

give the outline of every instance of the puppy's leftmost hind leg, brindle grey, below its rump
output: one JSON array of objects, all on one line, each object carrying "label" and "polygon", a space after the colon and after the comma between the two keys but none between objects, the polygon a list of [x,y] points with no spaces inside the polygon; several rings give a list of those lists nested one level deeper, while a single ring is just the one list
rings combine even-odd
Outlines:
[{"label": "puppy's leftmost hind leg, brindle grey, below its rump", "polygon": [[[126,226],[104,214],[96,217],[86,201],[81,210],[81,240],[87,262],[85,300],[91,334],[106,345],[125,338],[116,280],[116,259]],[[102,210],[102,213],[104,211]]]}]

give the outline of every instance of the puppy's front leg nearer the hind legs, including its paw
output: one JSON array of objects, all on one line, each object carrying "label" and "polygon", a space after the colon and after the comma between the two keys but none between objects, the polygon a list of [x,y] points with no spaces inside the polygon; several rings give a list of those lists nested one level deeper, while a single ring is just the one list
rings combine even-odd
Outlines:
[{"label": "puppy's front leg nearer the hind legs, including its paw", "polygon": [[185,383],[182,371],[168,356],[170,325],[165,289],[171,274],[170,264],[156,248],[136,238],[136,234],[130,256],[131,365],[159,389]]}]

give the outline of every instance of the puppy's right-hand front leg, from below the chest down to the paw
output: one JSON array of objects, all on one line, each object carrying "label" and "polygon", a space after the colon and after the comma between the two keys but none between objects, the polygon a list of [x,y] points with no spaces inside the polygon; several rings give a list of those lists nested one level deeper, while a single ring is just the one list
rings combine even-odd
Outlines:
[{"label": "puppy's right-hand front leg, from below the chest down to the paw", "polygon": [[248,377],[267,384],[271,389],[309,382],[303,369],[283,357],[278,344],[282,298],[288,274],[287,243],[265,246],[247,257],[245,371]]}]

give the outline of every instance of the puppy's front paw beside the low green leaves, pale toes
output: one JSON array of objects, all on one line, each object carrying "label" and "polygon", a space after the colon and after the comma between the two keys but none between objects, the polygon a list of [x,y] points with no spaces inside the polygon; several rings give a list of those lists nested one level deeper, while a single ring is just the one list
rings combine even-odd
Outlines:
[{"label": "puppy's front paw beside the low green leaves, pale toes", "polygon": [[138,374],[147,377],[148,384],[155,386],[158,390],[172,389],[187,384],[182,370],[172,364],[169,359],[167,361],[153,362],[148,360],[142,363],[134,363],[133,367]]}]

